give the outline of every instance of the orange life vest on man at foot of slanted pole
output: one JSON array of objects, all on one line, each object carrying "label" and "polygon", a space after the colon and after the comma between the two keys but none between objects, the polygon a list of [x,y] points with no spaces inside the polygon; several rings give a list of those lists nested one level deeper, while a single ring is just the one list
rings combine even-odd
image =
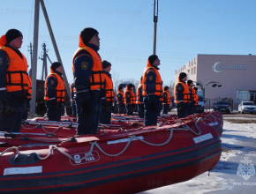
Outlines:
[{"label": "orange life vest on man at foot of slanted pole", "polygon": [[47,76],[44,82],[44,101],[49,101],[49,97],[47,96],[47,80],[49,77],[56,78],[56,101],[64,101],[65,96],[65,86],[64,86],[64,80],[54,71],[52,71],[50,67],[51,73]]}]

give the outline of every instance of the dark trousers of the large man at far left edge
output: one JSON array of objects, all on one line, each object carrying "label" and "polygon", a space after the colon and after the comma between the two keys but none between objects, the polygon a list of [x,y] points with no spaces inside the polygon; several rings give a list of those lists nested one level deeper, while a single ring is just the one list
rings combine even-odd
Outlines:
[{"label": "dark trousers of the large man at far left edge", "polygon": [[26,109],[26,99],[8,98],[8,106],[10,113],[7,116],[0,116],[0,131],[19,132]]}]

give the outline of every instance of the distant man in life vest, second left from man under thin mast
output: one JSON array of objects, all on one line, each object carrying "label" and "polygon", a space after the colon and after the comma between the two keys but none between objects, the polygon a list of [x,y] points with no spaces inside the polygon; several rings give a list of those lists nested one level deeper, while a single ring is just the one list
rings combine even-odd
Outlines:
[{"label": "distant man in life vest, second left from man under thin mast", "polygon": [[126,115],[133,116],[133,107],[136,104],[136,102],[132,84],[128,84],[126,86],[126,90],[124,93],[124,103],[126,107]]}]

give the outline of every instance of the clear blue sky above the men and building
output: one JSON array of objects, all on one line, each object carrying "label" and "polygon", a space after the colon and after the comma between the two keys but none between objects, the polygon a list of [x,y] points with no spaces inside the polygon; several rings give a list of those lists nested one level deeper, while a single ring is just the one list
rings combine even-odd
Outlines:
[{"label": "clear blue sky above the men and building", "polygon": [[[140,78],[153,54],[154,0],[45,0],[49,20],[72,83],[72,56],[78,48],[80,31],[94,27],[101,38],[102,60],[112,63],[112,74],[119,78]],[[21,52],[30,56],[33,42],[34,1],[1,0],[0,34],[10,28],[24,35]],[[159,0],[156,54],[161,60],[164,85],[174,80],[174,72],[197,54],[248,55],[256,53],[256,1],[245,0]],[[56,61],[48,28],[40,12],[39,53],[46,43],[49,57]],[[38,60],[37,78],[41,78]]]}]

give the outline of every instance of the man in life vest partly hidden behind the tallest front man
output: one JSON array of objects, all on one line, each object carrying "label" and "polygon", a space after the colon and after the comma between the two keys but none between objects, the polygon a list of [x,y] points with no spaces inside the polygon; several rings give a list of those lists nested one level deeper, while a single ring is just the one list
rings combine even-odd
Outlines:
[{"label": "man in life vest partly hidden behind the tallest front man", "polygon": [[110,124],[111,120],[111,112],[113,110],[113,102],[114,102],[114,90],[113,90],[113,82],[111,79],[111,63],[108,61],[102,61],[104,78],[106,81],[106,97],[102,98],[102,112],[100,116],[100,123]]}]

